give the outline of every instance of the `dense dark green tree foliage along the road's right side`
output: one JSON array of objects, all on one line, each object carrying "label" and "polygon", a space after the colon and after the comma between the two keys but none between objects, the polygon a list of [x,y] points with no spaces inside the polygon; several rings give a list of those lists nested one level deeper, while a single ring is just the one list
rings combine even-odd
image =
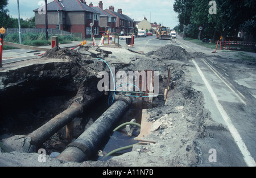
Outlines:
[{"label": "dense dark green tree foliage along the road's right side", "polygon": [[[174,11],[178,13],[179,28],[189,36],[196,37],[199,26],[203,26],[203,35],[213,35],[213,41],[217,34],[237,36],[241,24],[247,20],[256,20],[255,0],[215,0],[217,15],[209,14],[209,0],[175,0]],[[249,22],[248,22],[249,23]]]}]

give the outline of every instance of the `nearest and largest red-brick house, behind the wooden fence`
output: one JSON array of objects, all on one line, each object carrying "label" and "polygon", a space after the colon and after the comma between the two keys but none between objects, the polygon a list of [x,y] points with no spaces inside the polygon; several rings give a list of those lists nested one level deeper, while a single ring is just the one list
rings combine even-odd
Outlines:
[{"label": "nearest and largest red-brick house, behind the wooden fence", "polygon": [[[46,15],[35,9],[35,27],[46,27]],[[86,5],[85,0],[55,0],[47,4],[48,28],[57,28],[69,32],[82,33],[83,38],[90,38],[92,30],[99,35],[100,13]],[[94,26],[91,28],[90,23]]]}]

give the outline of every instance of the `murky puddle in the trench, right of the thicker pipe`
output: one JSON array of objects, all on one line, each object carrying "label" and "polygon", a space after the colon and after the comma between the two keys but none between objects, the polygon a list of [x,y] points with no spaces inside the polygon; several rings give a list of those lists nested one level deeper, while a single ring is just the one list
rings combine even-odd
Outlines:
[{"label": "murky puddle in the trench, right of the thicker pipe", "polygon": [[[145,101],[136,101],[133,102],[130,109],[123,115],[123,117],[120,119],[120,122],[117,126],[121,125],[125,122],[130,122],[131,119],[136,119],[136,122],[141,124],[141,118],[142,118],[142,110],[143,109],[151,109],[153,107],[156,107],[156,105],[153,105],[150,102]],[[130,152],[132,148],[129,148],[127,150],[122,150],[115,152],[114,154],[110,156],[104,156],[108,154],[110,151],[113,151],[117,148],[130,146],[131,144],[138,143],[137,140],[134,140],[135,137],[137,137],[140,133],[140,128],[138,126],[135,127],[133,134],[131,136],[128,136],[126,132],[126,126],[123,126],[118,131],[114,131],[114,133],[110,136],[110,139],[108,140],[108,143],[106,143],[105,147],[102,148],[102,155],[96,156],[94,158],[95,160],[109,160],[113,156],[122,155],[126,152]]]}]

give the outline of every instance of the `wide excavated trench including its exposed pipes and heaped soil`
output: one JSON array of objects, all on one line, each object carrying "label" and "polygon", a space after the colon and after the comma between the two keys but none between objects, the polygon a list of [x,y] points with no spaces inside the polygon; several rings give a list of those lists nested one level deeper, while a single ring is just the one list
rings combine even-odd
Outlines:
[{"label": "wide excavated trench including its exposed pipes and heaped soil", "polygon": [[[12,69],[0,71],[0,107],[3,109],[0,115],[0,137],[3,142],[7,140],[5,146],[10,146],[9,148],[14,146],[13,143],[23,146],[13,150],[37,152],[39,148],[43,148],[47,155],[59,152],[57,159],[64,162],[108,160],[131,151],[130,148],[104,157],[114,149],[138,143],[134,140],[140,134],[138,127],[127,136],[125,127],[113,132],[118,125],[134,118],[135,122],[141,123],[143,110],[148,110],[148,122],[162,122],[154,134],[171,133],[167,132],[171,129],[171,119],[166,115],[174,113],[179,119],[184,118],[181,114],[183,108],[189,106],[192,107],[191,110],[195,110],[193,107],[200,104],[197,102],[199,94],[191,89],[189,82],[185,83],[183,77],[187,55],[182,49],[167,46],[146,55],[131,57],[133,62],[129,65],[110,63],[111,67],[115,67],[114,75],[118,71],[159,72],[159,96],[154,97],[152,102],[116,92],[120,98],[116,98],[112,105],[108,105],[110,92],[104,95],[97,88],[101,80],[98,73],[106,71],[110,74],[105,63],[92,57],[86,48],[80,49],[81,53],[54,50],[49,51],[49,56],[40,63],[23,64],[23,67],[18,68],[10,66]],[[51,59],[51,55],[58,59]],[[102,59],[106,57],[106,53],[102,51],[100,55]],[[170,78],[168,71],[171,72]],[[111,79],[110,76],[110,87]],[[169,90],[167,101],[162,95],[166,89]],[[130,95],[138,96],[134,93]],[[129,99],[123,100],[122,97]],[[133,102],[130,101],[131,98]],[[193,112],[185,115],[190,116],[197,117]],[[201,115],[198,118],[200,121]],[[66,125],[69,123],[73,125],[73,139],[67,140]],[[199,129],[196,127],[195,130]],[[158,138],[154,138],[154,141],[157,140]],[[97,151],[101,151],[103,157],[98,157]]]}]

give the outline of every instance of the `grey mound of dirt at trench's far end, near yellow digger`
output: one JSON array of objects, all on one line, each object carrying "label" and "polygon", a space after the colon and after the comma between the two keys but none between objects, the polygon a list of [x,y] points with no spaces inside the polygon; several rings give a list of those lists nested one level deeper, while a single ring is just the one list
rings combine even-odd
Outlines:
[{"label": "grey mound of dirt at trench's far end, near yellow digger", "polygon": [[177,45],[165,45],[156,51],[146,53],[146,56],[160,60],[188,60],[185,49]]}]

